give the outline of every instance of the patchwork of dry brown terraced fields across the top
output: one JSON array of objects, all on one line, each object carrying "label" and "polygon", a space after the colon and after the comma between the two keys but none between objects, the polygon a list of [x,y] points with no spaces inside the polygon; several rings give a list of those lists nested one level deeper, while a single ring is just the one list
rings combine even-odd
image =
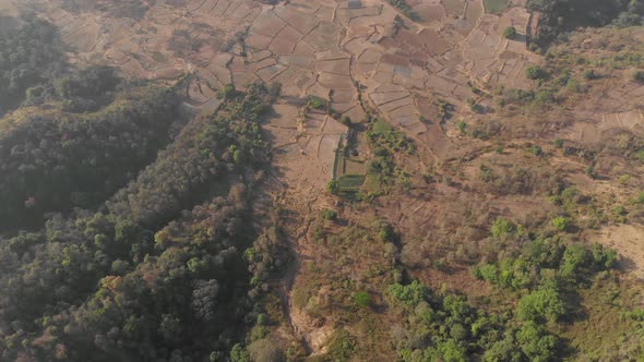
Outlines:
[{"label": "patchwork of dry brown terraced fields across the top", "polygon": [[[60,27],[79,62],[117,65],[136,77],[195,72],[189,92],[195,106],[214,101],[216,89],[228,83],[242,88],[255,81],[279,82],[287,97],[332,99],[335,111],[360,120],[359,85],[369,107],[439,158],[449,153],[450,142],[436,140],[440,134],[419,121],[419,116],[436,119],[429,106],[434,99],[455,105],[465,121],[479,118],[465,102],[474,97],[472,85],[525,87],[525,68],[541,61],[525,49],[530,14],[516,2],[496,15],[485,12],[481,0],[416,1],[410,2],[415,22],[378,0],[276,5],[159,0],[143,2],[144,13],[132,17],[72,0],[10,3],[19,9],[29,2]],[[502,36],[510,25],[518,29],[513,40]],[[606,122],[642,122],[635,104],[613,101],[624,93],[644,93],[644,87],[611,89],[592,104],[612,111],[589,111],[586,121],[597,129]]]}]

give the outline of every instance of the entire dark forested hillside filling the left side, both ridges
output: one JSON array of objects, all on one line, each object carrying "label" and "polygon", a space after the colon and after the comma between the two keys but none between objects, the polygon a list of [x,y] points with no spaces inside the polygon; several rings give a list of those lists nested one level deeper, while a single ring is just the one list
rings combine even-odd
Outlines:
[{"label": "entire dark forested hillside filling the left side, both ridges", "polygon": [[63,65],[55,28],[21,22],[0,39],[21,57],[2,63],[0,359],[227,355],[252,311],[242,253],[267,88],[228,87],[184,124],[184,83]]}]

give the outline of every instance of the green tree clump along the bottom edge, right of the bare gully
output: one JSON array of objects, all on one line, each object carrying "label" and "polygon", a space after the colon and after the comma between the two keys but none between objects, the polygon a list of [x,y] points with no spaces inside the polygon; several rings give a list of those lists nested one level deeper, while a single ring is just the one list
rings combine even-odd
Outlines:
[{"label": "green tree clump along the bottom edge, right of the bare gully", "polygon": [[431,293],[413,281],[393,285],[390,294],[405,304],[406,328],[394,330],[403,361],[549,361],[560,343],[533,321],[517,323],[488,314],[464,298]]}]

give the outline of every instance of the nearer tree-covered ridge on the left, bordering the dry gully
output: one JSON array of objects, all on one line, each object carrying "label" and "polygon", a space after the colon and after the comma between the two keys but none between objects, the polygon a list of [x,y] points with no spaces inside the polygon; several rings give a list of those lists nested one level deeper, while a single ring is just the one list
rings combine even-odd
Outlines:
[{"label": "nearer tree-covered ridge on the left, bordering the dry gully", "polygon": [[[57,215],[41,231],[0,239],[0,359],[227,355],[252,319],[248,179],[265,161],[259,121],[270,102],[263,85],[234,89],[97,212]],[[270,267],[253,260],[253,273]]]}]

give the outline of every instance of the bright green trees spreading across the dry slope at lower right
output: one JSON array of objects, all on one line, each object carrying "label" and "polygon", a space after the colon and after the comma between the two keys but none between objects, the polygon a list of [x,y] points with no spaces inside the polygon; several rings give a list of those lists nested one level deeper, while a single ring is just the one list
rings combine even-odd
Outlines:
[{"label": "bright green trees spreading across the dry slope at lower right", "polygon": [[[494,226],[498,237],[515,229],[503,220]],[[417,280],[394,283],[389,295],[405,315],[404,326],[394,329],[394,343],[404,361],[556,360],[565,341],[546,326],[573,318],[571,295],[596,273],[609,270],[616,258],[615,251],[598,244],[538,239],[518,255],[474,267],[477,278],[517,293],[513,313],[486,313]]]}]

